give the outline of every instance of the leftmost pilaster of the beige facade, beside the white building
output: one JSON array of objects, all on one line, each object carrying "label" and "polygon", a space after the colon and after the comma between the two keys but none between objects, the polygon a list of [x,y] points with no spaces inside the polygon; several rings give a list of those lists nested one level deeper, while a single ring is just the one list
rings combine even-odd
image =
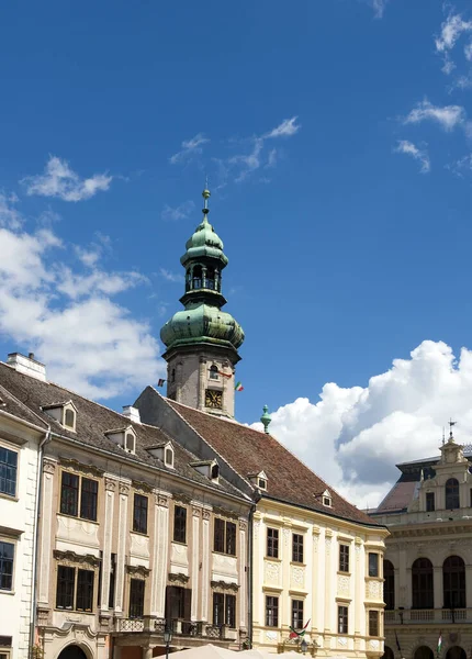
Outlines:
[{"label": "leftmost pilaster of the beige facade, beside the white building", "polygon": [[40,588],[37,593],[38,605],[49,603],[49,573],[50,573],[50,554],[52,538],[55,536],[53,529],[53,520],[55,511],[53,510],[54,492],[54,472],[57,462],[50,458],[43,459],[43,503],[41,506],[41,563],[37,569]]}]

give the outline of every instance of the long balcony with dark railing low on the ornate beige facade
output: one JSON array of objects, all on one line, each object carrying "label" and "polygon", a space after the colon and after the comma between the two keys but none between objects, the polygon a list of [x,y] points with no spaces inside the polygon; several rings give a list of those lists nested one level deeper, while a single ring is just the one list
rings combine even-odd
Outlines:
[{"label": "long balcony with dark railing low on the ornate beige facade", "polygon": [[[167,622],[166,618],[153,618],[143,616],[142,618],[117,618],[115,633],[134,634],[146,632],[147,634],[164,634]],[[175,619],[171,623],[172,636],[187,638],[204,638],[218,640],[236,640],[237,629],[232,629],[226,625],[210,625],[203,622]]]}]

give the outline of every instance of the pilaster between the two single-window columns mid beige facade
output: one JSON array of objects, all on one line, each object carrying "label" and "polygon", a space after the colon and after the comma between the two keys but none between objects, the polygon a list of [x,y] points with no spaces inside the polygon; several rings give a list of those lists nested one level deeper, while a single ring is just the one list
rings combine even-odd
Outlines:
[{"label": "pilaster between the two single-window columns mid beige facade", "polygon": [[151,572],[150,614],[162,618],[166,612],[166,585],[169,555],[169,499],[154,496],[154,556]]}]

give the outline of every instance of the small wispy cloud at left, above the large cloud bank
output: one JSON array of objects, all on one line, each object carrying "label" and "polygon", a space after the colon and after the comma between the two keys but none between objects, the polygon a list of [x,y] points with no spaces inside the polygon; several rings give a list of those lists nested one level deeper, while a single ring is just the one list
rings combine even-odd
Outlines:
[{"label": "small wispy cloud at left, above the large cloud bank", "polygon": [[21,180],[26,186],[27,194],[56,197],[63,201],[83,201],[97,192],[110,188],[113,177],[105,174],[94,174],[91,178],[81,179],[70,169],[66,160],[50,156],[45,172],[27,176]]}]

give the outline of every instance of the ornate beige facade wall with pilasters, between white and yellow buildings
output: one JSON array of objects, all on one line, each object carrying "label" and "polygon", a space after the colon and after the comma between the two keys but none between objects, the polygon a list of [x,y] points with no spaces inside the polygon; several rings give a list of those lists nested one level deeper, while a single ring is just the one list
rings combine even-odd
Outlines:
[{"label": "ornate beige facade wall with pilasters, between white and yellow buildings", "polygon": [[[97,522],[60,513],[63,472],[98,481]],[[38,626],[45,659],[56,659],[70,643],[90,657],[106,659],[111,636],[115,647],[142,646],[146,651],[162,645],[166,588],[171,585],[191,589],[186,622],[202,623],[204,635],[214,633],[213,593],[235,594],[236,625],[226,630],[225,639],[238,647],[248,627],[246,559],[241,561],[247,552],[248,505],[225,498],[224,492],[205,491],[178,474],[156,474],[142,465],[104,459],[58,443],[48,445],[43,483]],[[146,534],[133,530],[135,494],[148,500]],[[176,505],[187,510],[187,543],[173,541]],[[213,551],[215,517],[236,524],[236,557]],[[109,607],[112,555],[115,588]],[[57,608],[59,566],[94,571],[92,612]],[[145,582],[139,619],[130,617],[132,579]],[[160,636],[149,639],[146,626],[154,632],[155,624],[160,625]],[[177,629],[173,644],[184,647],[184,643]]]}]

